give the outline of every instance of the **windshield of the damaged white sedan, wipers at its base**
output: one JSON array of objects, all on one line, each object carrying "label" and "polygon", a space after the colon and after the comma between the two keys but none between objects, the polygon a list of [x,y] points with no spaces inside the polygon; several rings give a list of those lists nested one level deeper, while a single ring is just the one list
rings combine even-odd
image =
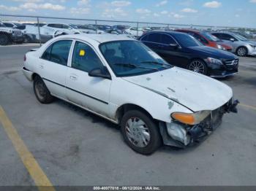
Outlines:
[{"label": "windshield of the damaged white sedan, wipers at its base", "polygon": [[114,41],[99,44],[116,77],[130,77],[170,69],[155,52],[138,41]]}]

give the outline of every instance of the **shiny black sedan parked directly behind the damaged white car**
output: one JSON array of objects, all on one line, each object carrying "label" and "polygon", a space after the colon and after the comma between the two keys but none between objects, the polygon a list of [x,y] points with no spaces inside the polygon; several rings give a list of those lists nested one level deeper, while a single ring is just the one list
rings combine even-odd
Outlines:
[{"label": "shiny black sedan parked directly behind the damaged white car", "polygon": [[168,63],[211,77],[227,77],[238,72],[238,57],[233,53],[206,47],[181,32],[152,31],[140,42],[157,52]]}]

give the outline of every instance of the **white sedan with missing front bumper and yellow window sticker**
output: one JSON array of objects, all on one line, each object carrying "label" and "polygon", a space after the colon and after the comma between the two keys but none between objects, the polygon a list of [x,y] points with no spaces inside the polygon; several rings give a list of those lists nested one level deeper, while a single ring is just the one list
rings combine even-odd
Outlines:
[{"label": "white sedan with missing front bumper and yellow window sticker", "polygon": [[23,73],[39,102],[61,98],[120,125],[129,147],[144,155],[162,143],[200,141],[225,112],[236,112],[230,87],[124,36],[59,36],[26,53]]}]

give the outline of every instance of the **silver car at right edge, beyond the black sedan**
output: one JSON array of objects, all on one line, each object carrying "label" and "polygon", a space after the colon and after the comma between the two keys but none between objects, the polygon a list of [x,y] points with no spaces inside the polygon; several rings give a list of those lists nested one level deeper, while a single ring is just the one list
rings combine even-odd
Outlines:
[{"label": "silver car at right edge, beyond the black sedan", "polygon": [[256,55],[256,42],[249,41],[240,34],[234,34],[231,32],[214,32],[214,36],[222,39],[223,42],[230,44],[233,47],[233,52],[239,56]]}]

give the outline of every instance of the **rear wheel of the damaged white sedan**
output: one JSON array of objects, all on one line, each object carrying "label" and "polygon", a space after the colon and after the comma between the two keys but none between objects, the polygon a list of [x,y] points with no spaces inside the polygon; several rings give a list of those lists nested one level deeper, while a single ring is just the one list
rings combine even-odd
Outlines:
[{"label": "rear wheel of the damaged white sedan", "polygon": [[50,104],[53,102],[53,95],[50,95],[50,91],[39,76],[34,78],[34,94],[37,100],[42,104]]}]

